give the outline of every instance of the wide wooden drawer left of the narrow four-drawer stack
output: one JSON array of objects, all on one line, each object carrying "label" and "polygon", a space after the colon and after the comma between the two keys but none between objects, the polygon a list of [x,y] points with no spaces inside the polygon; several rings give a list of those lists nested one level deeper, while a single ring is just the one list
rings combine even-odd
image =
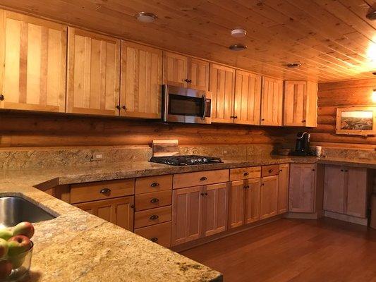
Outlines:
[{"label": "wide wooden drawer left of the narrow four-drawer stack", "polygon": [[135,180],[121,179],[71,185],[71,204],[123,197],[135,193]]}]

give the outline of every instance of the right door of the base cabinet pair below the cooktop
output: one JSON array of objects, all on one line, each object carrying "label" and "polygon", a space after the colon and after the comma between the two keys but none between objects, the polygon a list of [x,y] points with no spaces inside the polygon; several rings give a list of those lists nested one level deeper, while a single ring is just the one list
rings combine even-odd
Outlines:
[{"label": "right door of the base cabinet pair below the cooktop", "polygon": [[210,236],[227,229],[227,207],[229,189],[227,183],[205,186],[204,191],[204,236]]}]

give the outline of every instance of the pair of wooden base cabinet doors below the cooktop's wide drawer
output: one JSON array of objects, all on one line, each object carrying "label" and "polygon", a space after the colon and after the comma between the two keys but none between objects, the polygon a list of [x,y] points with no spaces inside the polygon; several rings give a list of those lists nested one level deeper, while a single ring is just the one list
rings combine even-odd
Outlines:
[{"label": "pair of wooden base cabinet doors below the cooktop's wide drawer", "polygon": [[227,183],[174,190],[171,245],[225,231],[227,197]]}]

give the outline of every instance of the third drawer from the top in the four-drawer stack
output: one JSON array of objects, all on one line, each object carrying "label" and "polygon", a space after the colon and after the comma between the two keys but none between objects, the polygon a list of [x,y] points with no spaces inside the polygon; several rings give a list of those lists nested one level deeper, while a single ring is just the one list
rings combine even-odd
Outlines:
[{"label": "third drawer from the top in the four-drawer stack", "polygon": [[171,206],[135,212],[135,228],[171,221]]}]

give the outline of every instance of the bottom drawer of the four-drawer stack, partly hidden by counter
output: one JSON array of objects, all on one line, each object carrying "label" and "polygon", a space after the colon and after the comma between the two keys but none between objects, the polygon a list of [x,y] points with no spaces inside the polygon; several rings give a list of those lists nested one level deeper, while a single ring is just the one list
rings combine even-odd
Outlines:
[{"label": "bottom drawer of the four-drawer stack, partly hidden by counter", "polygon": [[171,246],[171,221],[138,228],[135,233],[164,247]]}]

